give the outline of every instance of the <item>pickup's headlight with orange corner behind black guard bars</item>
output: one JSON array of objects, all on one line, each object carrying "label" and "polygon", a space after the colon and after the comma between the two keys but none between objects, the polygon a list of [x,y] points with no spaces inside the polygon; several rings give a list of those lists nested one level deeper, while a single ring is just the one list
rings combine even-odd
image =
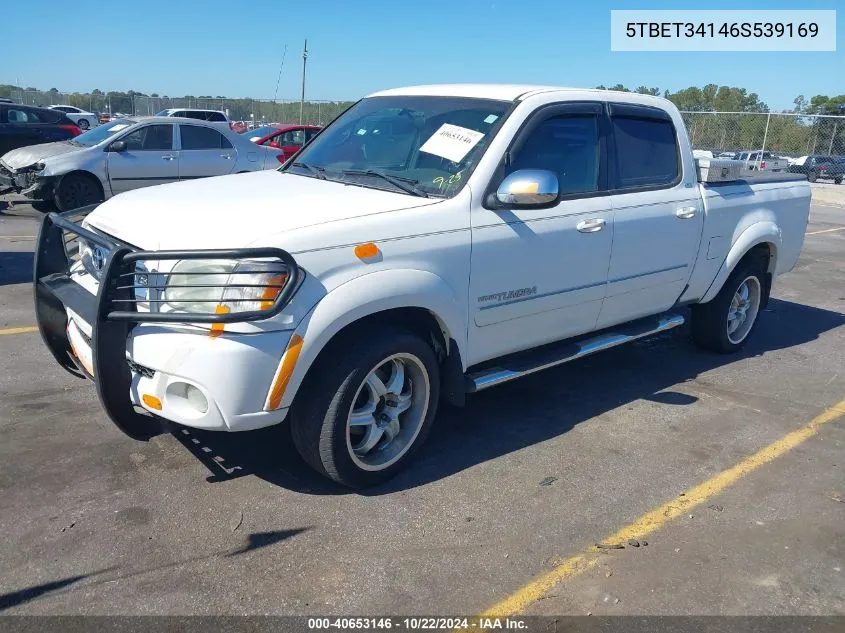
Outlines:
[{"label": "pickup's headlight with orange corner behind black guard bars", "polygon": [[162,308],[191,314],[269,310],[288,274],[279,262],[182,260],[167,279]]}]

